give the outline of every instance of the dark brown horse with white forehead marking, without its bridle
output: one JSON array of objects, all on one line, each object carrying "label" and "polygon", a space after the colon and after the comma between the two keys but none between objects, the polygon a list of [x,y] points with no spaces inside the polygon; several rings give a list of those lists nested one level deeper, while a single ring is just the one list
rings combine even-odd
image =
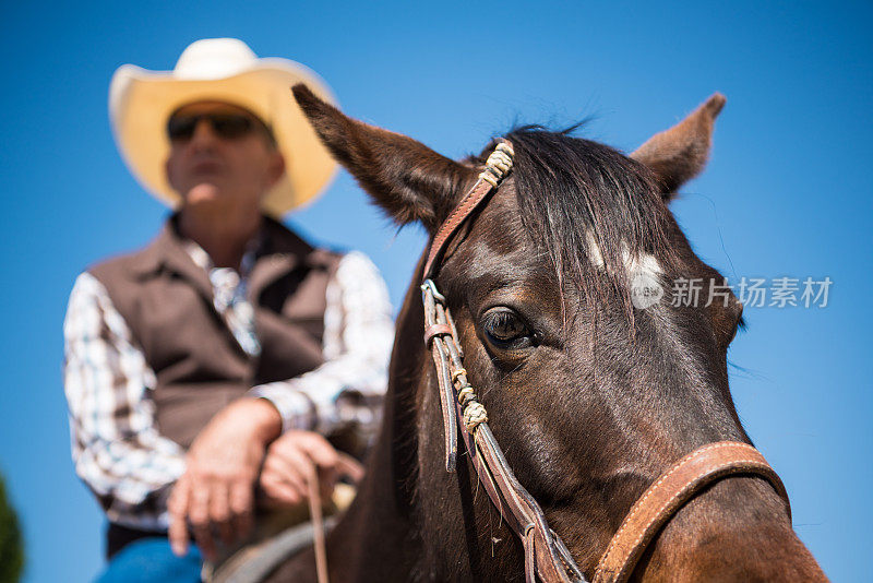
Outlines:
[{"label": "dark brown horse with white forehead marking, without its bridle", "polygon": [[[373,201],[431,236],[485,164],[352,120],[301,85],[295,96]],[[436,275],[493,435],[586,578],[666,468],[706,443],[750,441],[728,389],[727,349],[742,324],[737,298],[639,307],[631,293],[641,276],[665,291],[677,278],[702,278],[706,298],[722,281],[694,254],[668,203],[705,165],[723,103],[714,95],[631,156],[566,132],[506,134],[514,169],[454,237]],[[423,258],[398,316],[367,476],[327,539],[331,579],[524,580],[522,544],[463,442],[457,472],[445,471],[440,396],[422,343],[422,270]],[[751,475],[722,479],[681,508],[633,578],[825,579],[775,489]],[[271,578],[312,580],[311,551]]]}]

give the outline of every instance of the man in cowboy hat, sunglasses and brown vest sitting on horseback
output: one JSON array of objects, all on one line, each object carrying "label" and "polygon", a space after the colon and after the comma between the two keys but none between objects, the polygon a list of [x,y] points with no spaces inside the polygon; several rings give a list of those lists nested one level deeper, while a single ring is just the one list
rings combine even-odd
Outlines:
[{"label": "man in cowboy hat, sunglasses and brown vest sitting on horseback", "polygon": [[323,436],[376,418],[384,283],[364,255],[270,217],[334,171],[289,95],[300,81],[331,98],[302,66],[227,38],[112,79],[119,150],[176,213],[145,249],[80,275],[64,322],[73,457],[109,520],[104,581],[199,581],[199,551],[244,536],[256,508],[303,500],[309,468],[330,490]]}]

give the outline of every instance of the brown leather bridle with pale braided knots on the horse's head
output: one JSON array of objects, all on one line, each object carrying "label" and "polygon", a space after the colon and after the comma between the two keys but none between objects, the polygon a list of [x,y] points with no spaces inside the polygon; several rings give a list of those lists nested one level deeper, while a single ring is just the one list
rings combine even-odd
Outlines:
[{"label": "brown leather bridle with pale braided knots on the horse's head", "polygon": [[[522,539],[525,579],[552,582],[585,582],[570,550],[546,521],[537,501],[518,483],[488,426],[488,412],[479,402],[464,369],[464,353],[445,297],[433,282],[441,257],[467,217],[483,206],[513,166],[513,150],[499,143],[470,191],[440,226],[424,264],[421,285],[424,302],[424,343],[431,350],[440,386],[445,438],[445,467],[457,462],[457,426],[467,452],[500,514]],[[779,476],[764,456],[748,443],[721,441],[704,445],[675,463],[649,486],[631,508],[600,558],[594,582],[626,581],[648,544],[682,505],[710,484],[731,475],[755,475],[767,479],[785,500],[788,495]]]}]

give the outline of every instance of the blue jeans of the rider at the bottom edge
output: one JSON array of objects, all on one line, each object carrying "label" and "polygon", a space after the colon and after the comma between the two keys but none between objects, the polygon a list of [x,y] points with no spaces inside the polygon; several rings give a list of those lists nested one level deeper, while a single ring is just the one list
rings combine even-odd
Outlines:
[{"label": "blue jeans of the rider at the bottom edge", "polygon": [[202,566],[194,546],[179,558],[165,537],[142,538],[112,557],[97,583],[200,583]]}]

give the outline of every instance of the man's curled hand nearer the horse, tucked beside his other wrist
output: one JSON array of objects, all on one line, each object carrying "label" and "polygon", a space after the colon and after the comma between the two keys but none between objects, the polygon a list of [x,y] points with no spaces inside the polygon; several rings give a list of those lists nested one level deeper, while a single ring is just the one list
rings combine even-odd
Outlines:
[{"label": "man's curled hand nearer the horse, tucked beside his other wrist", "polygon": [[287,508],[309,498],[308,480],[318,473],[322,500],[327,500],[339,477],[339,455],[312,431],[288,431],[266,453],[259,485],[267,508]]}]

